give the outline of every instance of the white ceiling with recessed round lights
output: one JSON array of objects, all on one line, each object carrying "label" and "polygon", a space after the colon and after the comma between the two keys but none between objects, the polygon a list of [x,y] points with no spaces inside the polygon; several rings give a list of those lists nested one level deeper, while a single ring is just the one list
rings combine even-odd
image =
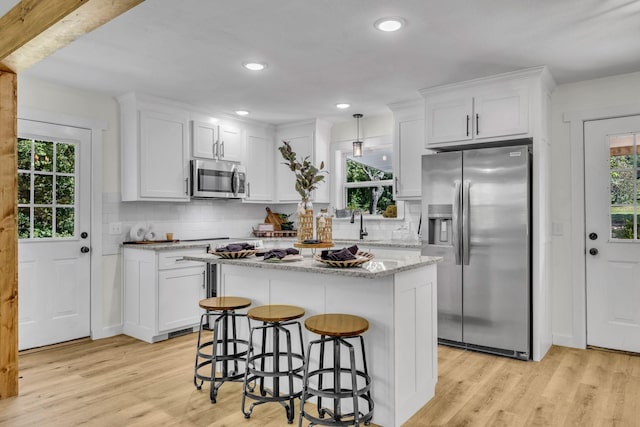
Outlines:
[{"label": "white ceiling with recessed round lights", "polygon": [[[0,0],[0,14],[15,3]],[[407,26],[379,32],[383,16]],[[268,68],[247,71],[247,60]],[[336,122],[388,112],[421,88],[544,64],[558,83],[640,71],[640,2],[147,0],[24,75],[270,123]]]}]

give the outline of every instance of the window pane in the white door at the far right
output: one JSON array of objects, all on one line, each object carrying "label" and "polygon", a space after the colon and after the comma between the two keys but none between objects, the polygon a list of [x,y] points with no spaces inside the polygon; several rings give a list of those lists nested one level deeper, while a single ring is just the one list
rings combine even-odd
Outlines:
[{"label": "window pane in the white door at the far right", "polygon": [[611,238],[638,241],[640,159],[638,134],[615,135],[609,142]]}]

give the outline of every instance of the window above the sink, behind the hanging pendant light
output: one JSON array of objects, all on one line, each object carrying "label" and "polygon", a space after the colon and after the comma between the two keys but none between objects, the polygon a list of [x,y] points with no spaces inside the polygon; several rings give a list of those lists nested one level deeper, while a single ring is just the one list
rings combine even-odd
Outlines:
[{"label": "window above the sink, behind the hanging pendant light", "polygon": [[337,144],[334,168],[336,207],[361,211],[379,218],[398,218],[402,202],[393,198],[393,149],[390,138],[367,138],[362,156],[354,157],[351,141]]}]

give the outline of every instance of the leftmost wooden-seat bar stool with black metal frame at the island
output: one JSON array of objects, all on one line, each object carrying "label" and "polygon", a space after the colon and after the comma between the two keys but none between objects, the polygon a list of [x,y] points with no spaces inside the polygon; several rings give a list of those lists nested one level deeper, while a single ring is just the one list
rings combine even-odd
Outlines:
[{"label": "leftmost wooden-seat bar stool with black metal frame at the island", "polygon": [[[244,366],[240,368],[239,362],[246,365],[249,341],[238,338],[236,318],[244,317],[246,319],[247,315],[236,313],[235,310],[249,307],[251,300],[231,296],[214,297],[200,300],[199,305],[206,312],[200,316],[193,384],[200,390],[205,381],[211,382],[209,397],[211,403],[216,403],[218,389],[224,382],[240,381],[244,377]],[[205,325],[211,325],[212,318],[213,337],[211,341],[202,342],[202,330]],[[229,331],[229,320],[231,320],[231,331]],[[231,363],[233,363],[232,369],[230,369]],[[206,370],[202,372],[206,366],[211,368],[210,372],[206,372]],[[219,374],[216,372],[218,367],[220,368]]]}]

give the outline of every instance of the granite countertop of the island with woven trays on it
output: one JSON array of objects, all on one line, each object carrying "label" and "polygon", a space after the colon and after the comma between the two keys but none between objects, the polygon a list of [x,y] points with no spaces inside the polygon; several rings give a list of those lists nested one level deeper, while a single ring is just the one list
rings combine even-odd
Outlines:
[{"label": "granite countertop of the island with woven trays on it", "polygon": [[315,261],[311,256],[305,256],[300,261],[269,262],[262,257],[251,256],[241,259],[224,259],[216,255],[190,255],[183,259],[189,261],[202,261],[212,264],[236,265],[242,267],[266,268],[275,270],[289,270],[301,273],[334,274],[338,276],[364,277],[375,279],[386,277],[402,271],[413,270],[442,261],[441,257],[431,256],[405,256],[398,258],[374,258],[359,267],[334,268]]}]

